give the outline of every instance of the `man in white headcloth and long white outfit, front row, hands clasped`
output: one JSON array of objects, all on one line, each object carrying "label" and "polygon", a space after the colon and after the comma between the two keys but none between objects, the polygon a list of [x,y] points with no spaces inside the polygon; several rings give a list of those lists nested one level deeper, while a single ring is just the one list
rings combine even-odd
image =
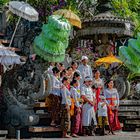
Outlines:
[{"label": "man in white headcloth and long white outfit, front row, hands clasped", "polygon": [[97,125],[94,110],[94,105],[96,101],[90,87],[91,81],[92,79],[90,77],[86,77],[81,90],[81,97],[84,101],[84,105],[82,108],[82,125],[85,131],[84,134],[86,135],[92,135],[93,127]]}]

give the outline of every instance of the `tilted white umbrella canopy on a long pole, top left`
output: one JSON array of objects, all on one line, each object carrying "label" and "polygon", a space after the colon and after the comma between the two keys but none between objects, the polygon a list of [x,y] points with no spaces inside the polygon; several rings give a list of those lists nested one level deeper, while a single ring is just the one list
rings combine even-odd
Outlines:
[{"label": "tilted white umbrella canopy on a long pole, top left", "polygon": [[10,1],[9,10],[29,21],[38,21],[38,12],[25,2]]}]

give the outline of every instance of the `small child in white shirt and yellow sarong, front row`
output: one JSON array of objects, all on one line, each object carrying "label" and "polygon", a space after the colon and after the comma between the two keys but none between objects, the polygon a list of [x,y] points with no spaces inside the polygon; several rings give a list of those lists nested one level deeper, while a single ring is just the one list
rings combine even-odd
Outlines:
[{"label": "small child in white shirt and yellow sarong, front row", "polygon": [[105,135],[105,126],[109,126],[107,115],[107,103],[104,96],[100,96],[98,103],[98,126],[100,129],[100,136]]}]

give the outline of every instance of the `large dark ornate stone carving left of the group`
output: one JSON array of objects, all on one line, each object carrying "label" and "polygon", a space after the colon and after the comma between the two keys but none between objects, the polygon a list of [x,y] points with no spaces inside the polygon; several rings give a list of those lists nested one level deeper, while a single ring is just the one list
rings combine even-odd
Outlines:
[{"label": "large dark ornate stone carving left of the group", "polygon": [[38,123],[33,106],[46,93],[44,77],[36,63],[28,60],[23,66],[7,71],[2,86],[7,105],[4,122],[20,128]]}]

